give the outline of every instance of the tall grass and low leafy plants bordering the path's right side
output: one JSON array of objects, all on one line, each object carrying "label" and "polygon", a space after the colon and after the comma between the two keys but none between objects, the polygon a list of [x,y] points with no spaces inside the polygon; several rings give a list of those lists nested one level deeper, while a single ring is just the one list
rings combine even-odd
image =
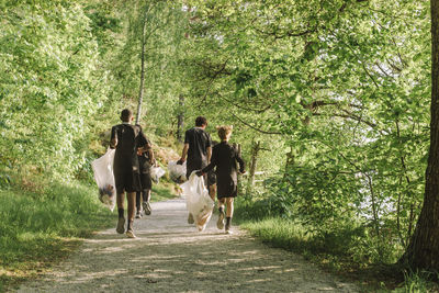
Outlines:
[{"label": "tall grass and low leafy plants bordering the path's right side", "polygon": [[[383,257],[373,249],[375,239],[354,222],[339,226],[334,233],[319,234],[292,217],[264,212],[260,204],[243,203],[240,199],[236,202],[236,222],[257,239],[300,253],[325,269],[348,277],[351,282],[361,283],[364,292],[439,292],[439,284],[430,281],[439,280],[439,274],[403,274],[402,268],[394,264],[396,259],[380,263]],[[393,248],[389,243],[382,245],[386,249]]]}]

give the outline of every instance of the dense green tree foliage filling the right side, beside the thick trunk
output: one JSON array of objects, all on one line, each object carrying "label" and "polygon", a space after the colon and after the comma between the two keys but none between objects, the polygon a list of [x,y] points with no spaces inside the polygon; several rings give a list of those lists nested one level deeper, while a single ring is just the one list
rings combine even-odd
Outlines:
[{"label": "dense green tree foliage filling the right side, beside the thick trunk", "polygon": [[333,243],[356,261],[395,261],[424,194],[428,1],[190,3],[190,106],[270,148],[264,190],[237,214],[294,218],[329,243],[348,230]]}]

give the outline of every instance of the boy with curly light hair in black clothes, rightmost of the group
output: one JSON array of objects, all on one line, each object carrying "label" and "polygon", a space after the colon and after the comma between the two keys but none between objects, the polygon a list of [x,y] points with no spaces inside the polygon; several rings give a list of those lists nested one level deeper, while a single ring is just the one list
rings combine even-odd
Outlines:
[{"label": "boy with curly light hair in black clothes, rightmost of the group", "polygon": [[239,162],[239,172],[245,173],[245,164],[238,151],[228,144],[228,139],[232,136],[233,126],[219,126],[218,136],[221,143],[213,147],[211,164],[205,168],[198,171],[198,176],[202,176],[213,170],[216,167],[216,187],[218,198],[218,211],[219,216],[216,222],[218,229],[224,228],[224,204],[227,206],[226,211],[226,226],[225,230],[227,234],[232,234],[230,225],[234,212],[234,199],[237,195],[237,170],[236,161]]}]

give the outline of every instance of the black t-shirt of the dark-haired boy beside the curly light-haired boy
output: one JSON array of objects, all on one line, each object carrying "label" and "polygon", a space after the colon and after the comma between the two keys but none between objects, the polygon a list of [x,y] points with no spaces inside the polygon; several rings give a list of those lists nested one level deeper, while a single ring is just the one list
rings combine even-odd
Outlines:
[{"label": "black t-shirt of the dark-haired boy beside the curly light-haired boy", "polygon": [[207,147],[212,145],[212,139],[203,128],[193,127],[187,131],[184,134],[184,144],[189,144],[188,164],[191,161],[207,161]]}]

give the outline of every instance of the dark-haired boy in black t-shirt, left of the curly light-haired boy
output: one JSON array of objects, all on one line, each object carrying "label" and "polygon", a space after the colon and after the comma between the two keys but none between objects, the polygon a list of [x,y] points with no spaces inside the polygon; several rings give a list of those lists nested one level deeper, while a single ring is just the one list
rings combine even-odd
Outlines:
[{"label": "dark-haired boy in black t-shirt, left of the curly light-haired boy", "polygon": [[[207,120],[204,116],[195,119],[195,127],[188,129],[184,133],[184,146],[181,158],[177,164],[181,165],[187,160],[187,178],[195,171],[204,168],[211,160],[212,156],[212,139],[209,133],[205,132]],[[207,178],[204,178],[207,183]],[[193,215],[189,214],[188,223],[193,224]]]}]

